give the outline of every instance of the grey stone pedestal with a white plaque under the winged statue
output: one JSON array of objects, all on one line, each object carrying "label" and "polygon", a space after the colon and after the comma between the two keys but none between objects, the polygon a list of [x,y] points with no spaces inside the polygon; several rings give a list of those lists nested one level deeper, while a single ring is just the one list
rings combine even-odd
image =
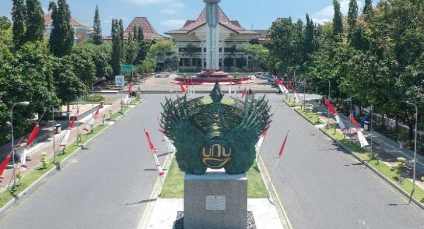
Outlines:
[{"label": "grey stone pedestal with a white plaque under the winged statue", "polygon": [[184,178],[184,229],[246,229],[247,177],[223,170]]}]

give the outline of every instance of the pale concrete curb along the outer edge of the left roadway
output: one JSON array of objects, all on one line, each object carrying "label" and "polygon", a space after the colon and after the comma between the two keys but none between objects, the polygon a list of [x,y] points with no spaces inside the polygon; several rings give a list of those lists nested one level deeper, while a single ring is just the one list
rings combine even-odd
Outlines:
[{"label": "pale concrete curb along the outer edge of the left roadway", "polygon": [[[127,113],[128,111],[130,111],[132,108],[133,107],[131,107],[130,109],[128,109],[125,113]],[[123,117],[124,114],[121,115],[120,117],[118,117],[116,120],[118,120],[119,118]],[[107,130],[110,126],[111,125],[108,124],[103,130],[101,130],[99,133],[97,133],[92,138],[88,139],[84,144],[79,145],[77,149],[75,149],[72,153],[70,153],[66,158],[64,158],[59,163],[59,167],[60,167],[60,164],[65,164],[69,159],[71,159],[75,154],[77,154],[78,151],[80,151],[81,149],[83,149],[83,147],[84,147],[85,144],[91,142],[93,139],[95,139],[96,137],[98,137],[101,133],[103,133],[105,130]],[[16,203],[23,196],[25,196],[28,192],[30,192],[32,189],[34,189],[35,187],[37,187],[44,179],[46,179],[46,177],[48,177],[49,175],[51,175],[54,171],[57,171],[57,166],[52,167],[49,171],[47,171],[46,173],[44,173],[35,182],[33,182],[30,186],[28,186],[28,188],[26,188],[25,190],[23,190],[21,193],[17,194],[12,200],[10,200],[9,202],[7,202],[5,206],[3,206],[2,208],[0,208],[0,215],[2,215],[4,212],[6,212],[10,207],[12,207],[14,205],[14,203]],[[5,192],[6,191],[7,190],[5,190]]]}]

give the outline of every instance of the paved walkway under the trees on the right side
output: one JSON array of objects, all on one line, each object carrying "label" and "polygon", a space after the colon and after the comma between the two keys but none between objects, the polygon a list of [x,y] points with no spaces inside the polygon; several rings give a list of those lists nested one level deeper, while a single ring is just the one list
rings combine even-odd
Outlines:
[{"label": "paved walkway under the trees on the right side", "polygon": [[[326,106],[320,106],[316,100],[309,100],[309,105],[312,106],[313,112],[322,112],[322,116],[320,116],[320,119],[323,122],[328,121],[328,108]],[[340,118],[344,122],[344,124],[347,127],[347,130],[349,131],[349,117],[339,114]],[[337,123],[334,116],[330,114],[330,123]],[[323,124],[324,126],[325,124]],[[358,142],[358,137],[356,134],[356,129],[354,128],[354,124],[351,124],[351,140]],[[337,130],[339,133],[341,133],[340,129]],[[370,131],[363,131],[365,137],[368,140],[368,143],[371,141],[371,132]],[[348,137],[348,136],[347,136]],[[413,159],[414,159],[414,152],[408,148],[405,147],[399,147],[399,144],[397,141],[394,141],[391,138],[388,138],[376,131],[372,132],[372,150],[375,153],[379,154],[379,158],[382,162],[389,166],[394,166],[397,164],[397,158],[403,157],[407,159],[407,168],[404,170],[405,176],[412,180],[413,177]],[[370,151],[371,148],[365,147],[364,148],[367,151]],[[417,164],[416,164],[416,184],[424,189],[424,182],[421,182],[421,177],[424,176],[424,156],[421,156],[417,154]]]}]

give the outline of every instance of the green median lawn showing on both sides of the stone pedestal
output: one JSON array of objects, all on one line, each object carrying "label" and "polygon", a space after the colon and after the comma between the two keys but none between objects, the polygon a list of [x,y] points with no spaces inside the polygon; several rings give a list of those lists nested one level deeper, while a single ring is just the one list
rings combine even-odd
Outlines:
[{"label": "green median lawn showing on both sides of the stone pedestal", "polygon": [[[169,168],[160,197],[171,199],[184,197],[184,172],[178,168],[175,158]],[[261,172],[256,167],[250,168],[247,172],[247,197],[268,198]]]}]

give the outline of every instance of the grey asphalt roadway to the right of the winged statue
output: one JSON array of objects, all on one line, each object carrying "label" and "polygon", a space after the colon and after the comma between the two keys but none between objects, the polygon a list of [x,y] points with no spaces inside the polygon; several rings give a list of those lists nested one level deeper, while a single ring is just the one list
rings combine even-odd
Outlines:
[{"label": "grey asphalt roadway to the right of the winged statue", "polygon": [[[424,211],[339,149],[309,122],[269,95],[277,110],[262,148],[293,228],[424,228]],[[272,109],[274,110],[274,109]]]}]

